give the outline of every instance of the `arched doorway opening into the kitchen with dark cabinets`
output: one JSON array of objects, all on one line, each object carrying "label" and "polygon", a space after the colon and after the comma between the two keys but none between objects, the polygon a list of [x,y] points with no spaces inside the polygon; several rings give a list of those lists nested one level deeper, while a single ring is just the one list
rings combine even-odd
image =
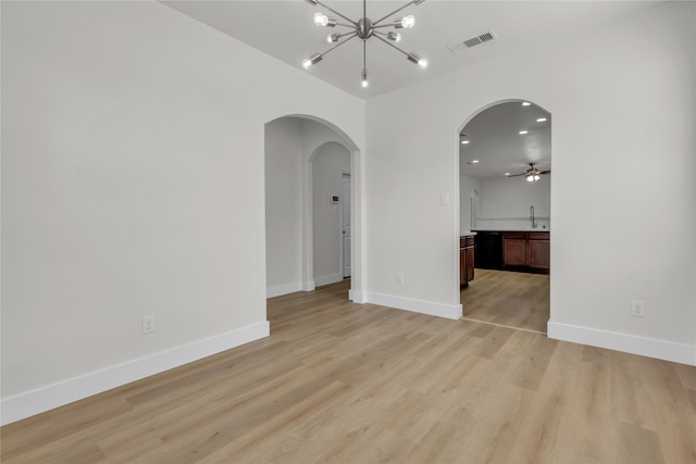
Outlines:
[{"label": "arched doorway opening into the kitchen with dark cabinets", "polygon": [[463,317],[546,333],[549,319],[551,114],[494,102],[460,126],[460,229],[475,240]]}]

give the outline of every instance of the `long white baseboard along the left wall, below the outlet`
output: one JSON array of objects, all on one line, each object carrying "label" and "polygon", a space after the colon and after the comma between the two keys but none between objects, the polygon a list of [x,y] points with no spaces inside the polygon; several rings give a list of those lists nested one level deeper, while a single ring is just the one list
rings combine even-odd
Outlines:
[{"label": "long white baseboard along the left wall, below the outlet", "polygon": [[182,366],[270,335],[270,324],[243,327],[215,337],[176,347],[146,358],[85,374],[65,381],[5,398],[0,402],[0,424],[10,424],[112,388]]}]

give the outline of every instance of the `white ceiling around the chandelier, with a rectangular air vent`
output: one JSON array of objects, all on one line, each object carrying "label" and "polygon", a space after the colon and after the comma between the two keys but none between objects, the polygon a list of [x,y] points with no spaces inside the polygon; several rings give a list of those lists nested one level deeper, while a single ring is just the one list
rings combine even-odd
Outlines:
[{"label": "white ceiling around the chandelier, with a rectangular air vent", "polygon": [[[361,0],[321,1],[353,21],[362,17]],[[417,18],[414,28],[399,30],[402,40],[398,46],[406,52],[413,51],[426,58],[428,67],[421,70],[382,41],[368,39],[370,86],[366,89],[360,86],[362,40],[359,38],[326,54],[309,70],[302,68],[302,60],[331,48],[325,41],[328,33],[347,30],[338,26],[333,29],[315,26],[312,16],[316,11],[333,15],[319,5],[313,7],[304,0],[175,0],[161,3],[368,99],[505,54],[546,53],[581,33],[659,1],[427,0],[418,7],[411,4],[395,16],[413,14]],[[406,3],[400,0],[368,1],[368,17],[376,21]],[[496,40],[457,52],[448,49],[448,46],[489,30],[494,32]]]}]

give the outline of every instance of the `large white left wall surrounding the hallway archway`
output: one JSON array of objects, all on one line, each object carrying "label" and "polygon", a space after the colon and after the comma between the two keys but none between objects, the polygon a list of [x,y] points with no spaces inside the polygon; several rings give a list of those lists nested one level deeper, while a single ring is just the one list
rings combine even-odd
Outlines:
[{"label": "large white left wall surrounding the hallway archway", "polygon": [[3,423],[266,335],[264,124],[364,150],[361,100],[157,2],[2,2],[2,111]]}]

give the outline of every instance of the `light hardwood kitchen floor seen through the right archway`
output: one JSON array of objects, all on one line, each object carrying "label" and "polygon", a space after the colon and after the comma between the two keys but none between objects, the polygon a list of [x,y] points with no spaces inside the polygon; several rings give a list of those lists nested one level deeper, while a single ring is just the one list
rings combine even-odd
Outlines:
[{"label": "light hardwood kitchen floor seen through the right archway", "polygon": [[465,319],[546,334],[548,275],[477,268],[460,296]]}]

